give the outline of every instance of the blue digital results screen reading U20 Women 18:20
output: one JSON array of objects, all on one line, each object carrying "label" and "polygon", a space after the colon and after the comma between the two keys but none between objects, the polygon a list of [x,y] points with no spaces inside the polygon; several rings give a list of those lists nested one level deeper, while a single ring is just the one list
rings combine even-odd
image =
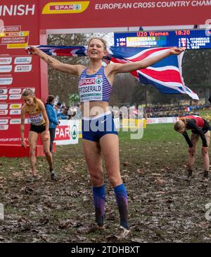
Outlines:
[{"label": "blue digital results screen reading U20 Women 18:20", "polygon": [[120,32],[114,34],[116,47],[186,47],[211,48],[211,32],[196,30],[159,30]]}]

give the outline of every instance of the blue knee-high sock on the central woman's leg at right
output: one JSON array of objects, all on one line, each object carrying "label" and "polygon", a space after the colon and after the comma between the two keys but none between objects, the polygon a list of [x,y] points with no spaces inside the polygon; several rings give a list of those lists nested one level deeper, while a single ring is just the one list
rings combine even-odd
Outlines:
[{"label": "blue knee-high sock on the central woman's leg at right", "polygon": [[129,229],[127,222],[128,215],[128,203],[127,203],[127,191],[122,183],[119,186],[115,186],[114,188],[115,196],[117,199],[117,205],[120,212],[120,225],[125,229]]}]

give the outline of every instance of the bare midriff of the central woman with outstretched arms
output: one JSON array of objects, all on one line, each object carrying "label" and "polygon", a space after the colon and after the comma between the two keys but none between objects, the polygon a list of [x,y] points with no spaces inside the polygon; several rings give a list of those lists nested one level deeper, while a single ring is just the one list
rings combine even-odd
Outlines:
[{"label": "bare midriff of the central woman with outstretched arms", "polygon": [[91,101],[82,102],[82,116],[83,117],[94,117],[99,114],[108,112],[108,102]]}]

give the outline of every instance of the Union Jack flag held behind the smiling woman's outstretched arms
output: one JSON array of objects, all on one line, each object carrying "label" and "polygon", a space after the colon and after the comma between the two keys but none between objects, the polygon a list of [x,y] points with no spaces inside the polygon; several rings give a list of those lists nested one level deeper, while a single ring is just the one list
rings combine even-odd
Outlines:
[{"label": "Union Jack flag held behind the smiling woman's outstretched arms", "polygon": [[[37,46],[43,52],[53,56],[86,56],[87,47],[68,46]],[[141,61],[167,52],[170,47],[142,48],[142,47],[109,47],[105,59],[115,63]],[[163,94],[187,94],[194,100],[198,95],[184,85],[181,76],[181,60],[184,53],[170,55],[150,67],[132,71],[132,75],[143,84],[154,85]]]}]

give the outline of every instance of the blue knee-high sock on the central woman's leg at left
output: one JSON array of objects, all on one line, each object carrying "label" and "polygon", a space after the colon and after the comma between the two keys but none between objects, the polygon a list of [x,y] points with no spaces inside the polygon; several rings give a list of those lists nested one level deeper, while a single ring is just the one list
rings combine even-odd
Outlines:
[{"label": "blue knee-high sock on the central woman's leg at left", "polygon": [[93,198],[95,208],[95,218],[98,226],[103,226],[105,212],[106,191],[105,186],[93,186]]}]

